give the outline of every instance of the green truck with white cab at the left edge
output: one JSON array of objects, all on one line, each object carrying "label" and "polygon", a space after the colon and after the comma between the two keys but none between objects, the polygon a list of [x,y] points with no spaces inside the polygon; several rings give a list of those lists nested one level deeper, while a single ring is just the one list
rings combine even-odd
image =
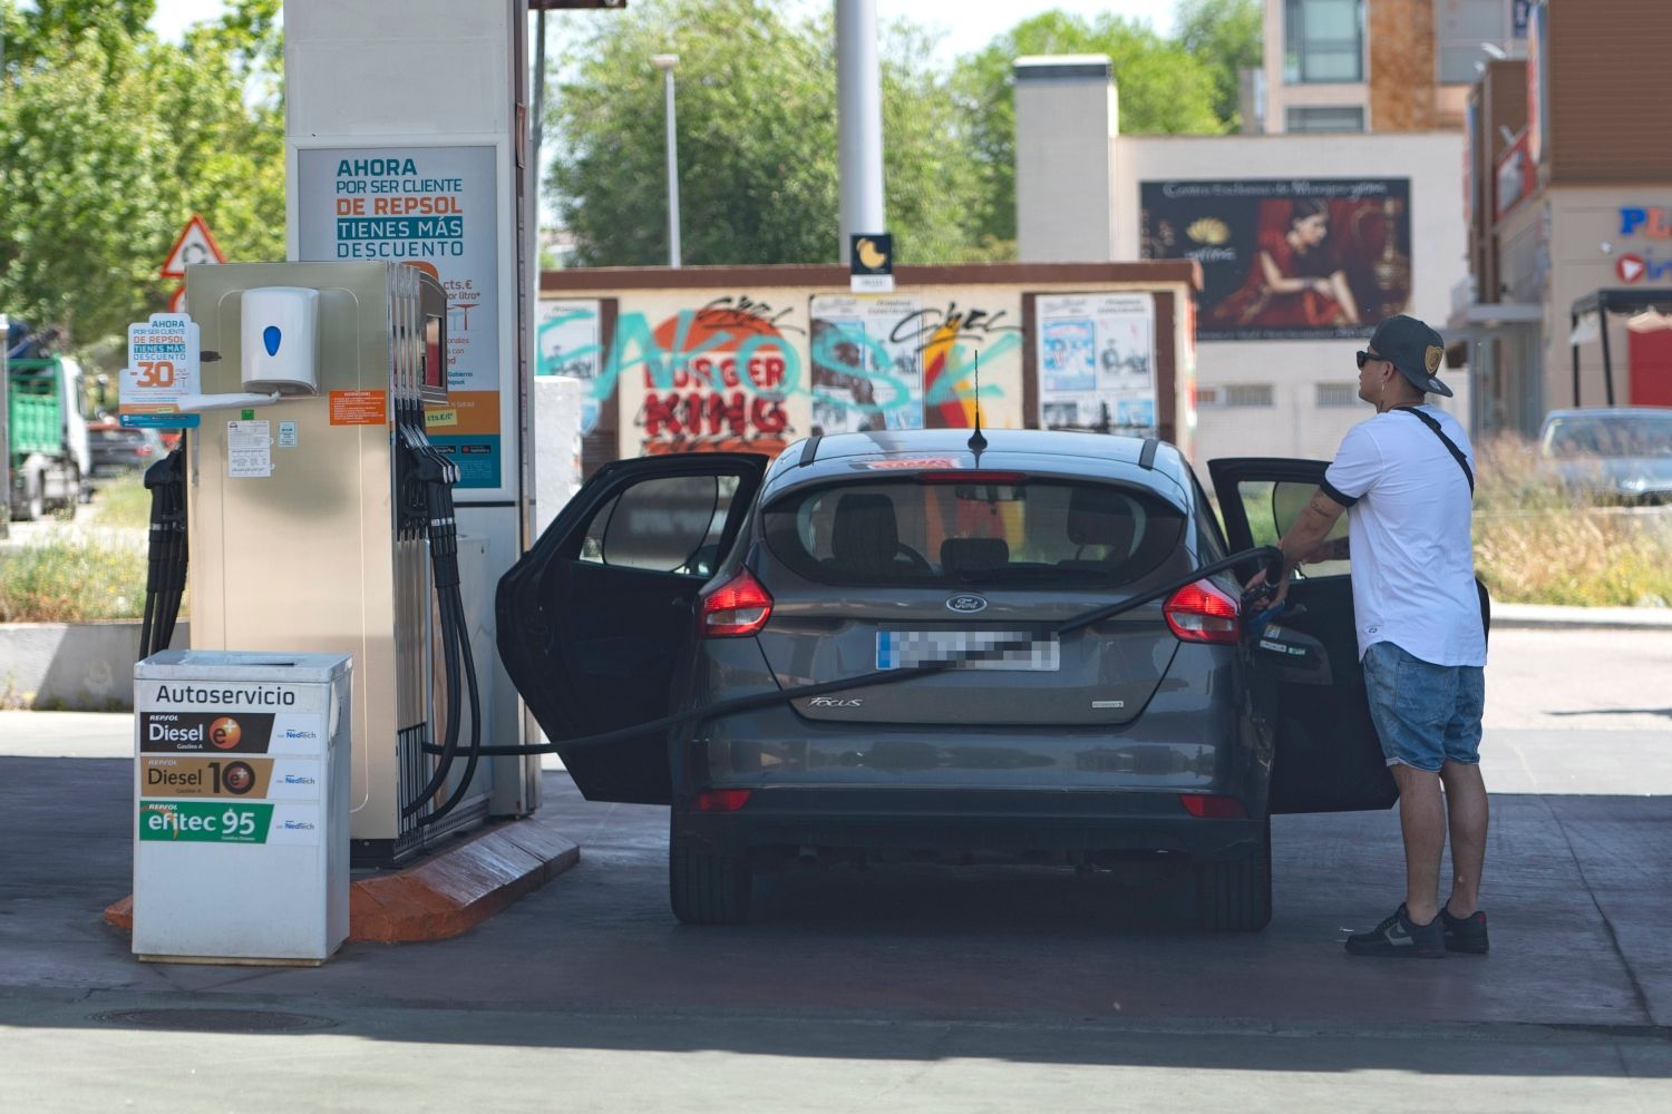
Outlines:
[{"label": "green truck with white cab at the left edge", "polygon": [[7,366],[7,441],[12,518],[33,521],[72,511],[87,491],[92,453],[82,403],[82,369],[67,356],[12,359]]}]

